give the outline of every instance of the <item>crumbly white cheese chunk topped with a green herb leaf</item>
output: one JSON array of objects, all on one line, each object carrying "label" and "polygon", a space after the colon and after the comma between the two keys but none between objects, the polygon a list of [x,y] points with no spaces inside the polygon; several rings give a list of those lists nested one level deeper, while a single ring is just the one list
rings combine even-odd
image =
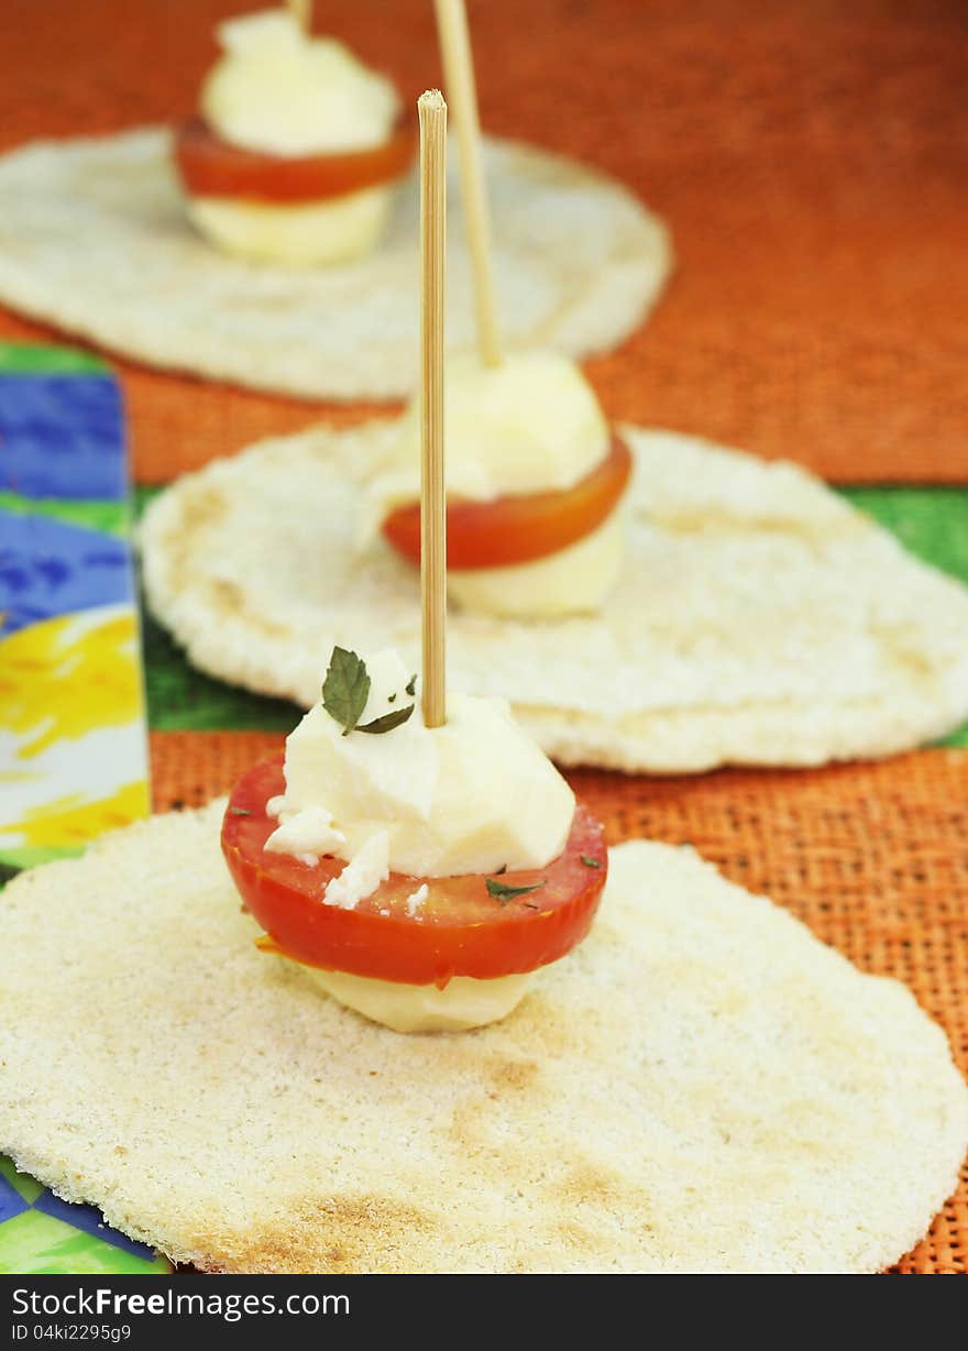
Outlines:
[{"label": "crumbly white cheese chunk topped with a green herb leaf", "polygon": [[321,704],[312,708],[286,740],[286,790],[274,804],[281,827],[267,848],[302,857],[319,830],[320,851],[352,861],[385,834],[385,866],[414,877],[514,871],[558,858],[575,797],[506,701],[450,693],[447,721],[428,728],[419,693],[406,694],[412,673],[400,657],[378,653],[366,666],[360,724],[410,703],[413,713],[393,731],[344,736]]}]

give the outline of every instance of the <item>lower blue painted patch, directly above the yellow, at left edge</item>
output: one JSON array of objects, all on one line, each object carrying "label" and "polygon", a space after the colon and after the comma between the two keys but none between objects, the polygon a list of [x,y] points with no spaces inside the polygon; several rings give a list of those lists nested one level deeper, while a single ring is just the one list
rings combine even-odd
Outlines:
[{"label": "lower blue painted patch, directly above the yellow, at left edge", "polygon": [[124,540],[49,516],[0,511],[0,635],[132,596]]}]

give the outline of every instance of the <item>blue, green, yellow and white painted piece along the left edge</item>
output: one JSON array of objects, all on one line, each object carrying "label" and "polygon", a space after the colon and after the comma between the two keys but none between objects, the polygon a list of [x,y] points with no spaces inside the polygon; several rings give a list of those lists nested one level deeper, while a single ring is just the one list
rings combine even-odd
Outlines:
[{"label": "blue, green, yellow and white painted piece along the left edge", "polygon": [[[81,353],[0,346],[0,875],[147,812],[119,386]],[[167,1270],[0,1159],[0,1273]]]}]

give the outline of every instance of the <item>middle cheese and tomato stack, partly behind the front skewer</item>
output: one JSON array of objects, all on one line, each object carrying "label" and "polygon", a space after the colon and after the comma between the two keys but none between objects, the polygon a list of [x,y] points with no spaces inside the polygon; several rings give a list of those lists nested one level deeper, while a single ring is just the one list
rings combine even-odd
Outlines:
[{"label": "middle cheese and tomato stack, partly behind the front skewer", "polygon": [[[467,609],[532,619],[597,609],[622,562],[632,455],[578,366],[552,351],[451,358],[447,589]],[[420,403],[373,484],[367,535],[420,562]]]}]

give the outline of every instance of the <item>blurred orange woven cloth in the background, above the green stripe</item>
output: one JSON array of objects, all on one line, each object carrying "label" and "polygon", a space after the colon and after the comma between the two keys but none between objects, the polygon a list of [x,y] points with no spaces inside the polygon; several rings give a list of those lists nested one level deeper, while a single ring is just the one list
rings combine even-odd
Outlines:
[{"label": "blurred orange woven cloth in the background, above the green stripe", "polygon": [[[186,112],[213,19],[265,3],[5,0],[0,149]],[[470,11],[485,123],[601,165],[674,228],[653,322],[589,365],[613,417],[841,482],[968,481],[960,0]],[[440,77],[428,0],[316,0],[316,27],[408,97]],[[5,335],[50,338],[0,316]],[[144,482],[332,412],[120,369]]]}]

